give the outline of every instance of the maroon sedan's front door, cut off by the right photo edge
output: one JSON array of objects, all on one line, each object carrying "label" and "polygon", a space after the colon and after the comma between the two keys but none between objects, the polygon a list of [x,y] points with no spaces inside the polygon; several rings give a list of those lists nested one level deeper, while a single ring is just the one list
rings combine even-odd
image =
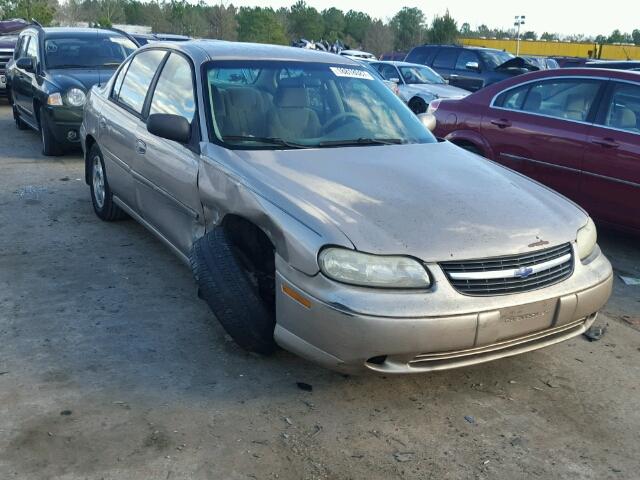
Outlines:
[{"label": "maroon sedan's front door, cut off by the right photo edge", "polygon": [[610,82],[587,142],[584,206],[601,221],[640,232],[640,83]]}]

